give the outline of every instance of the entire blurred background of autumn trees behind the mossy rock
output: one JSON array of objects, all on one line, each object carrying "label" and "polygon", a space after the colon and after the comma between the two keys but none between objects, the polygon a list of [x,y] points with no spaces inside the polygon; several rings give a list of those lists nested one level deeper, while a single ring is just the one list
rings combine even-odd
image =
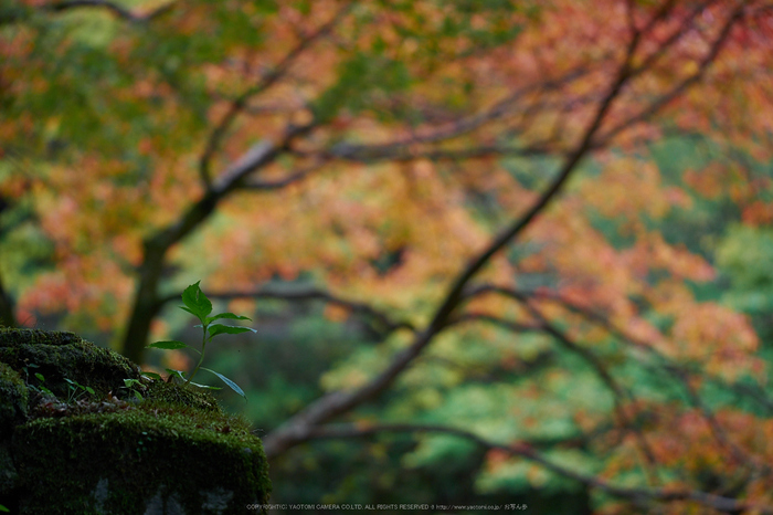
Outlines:
[{"label": "entire blurred background of autumn trees behind the mossy rock", "polygon": [[219,359],[276,502],[773,513],[772,38],[755,0],[3,0],[0,317],[158,365],[186,285],[253,312]]}]

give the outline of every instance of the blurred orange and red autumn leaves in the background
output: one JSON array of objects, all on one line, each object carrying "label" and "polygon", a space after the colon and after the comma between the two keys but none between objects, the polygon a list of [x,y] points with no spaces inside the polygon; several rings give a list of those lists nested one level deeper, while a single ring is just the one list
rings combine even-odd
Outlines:
[{"label": "blurred orange and red autumn leaves in the background", "polygon": [[[277,2],[272,14],[255,13],[252,3],[190,3],[146,20],[147,33],[113,20],[100,51],[118,71],[87,77],[106,94],[80,92],[93,102],[83,108],[96,113],[89,111],[94,126],[109,136],[94,134],[99,144],[85,138],[54,156],[57,141],[75,137],[65,133],[76,115],[59,107],[0,119],[0,140],[11,141],[0,160],[13,150],[23,157],[13,170],[33,169],[0,170],[0,198],[30,199],[53,248],[53,266],[19,287],[20,315],[66,313],[118,332],[149,272],[161,277],[148,286],[153,302],[172,283],[205,273],[208,287],[219,292],[301,280],[421,327],[465,266],[549,191],[576,154],[584,160],[563,197],[467,284],[522,288],[530,303],[481,295],[454,314],[570,326],[568,337],[602,362],[632,359],[627,347],[610,350],[608,327],[578,313],[587,309],[678,365],[729,382],[764,378],[750,319],[696,299],[691,284],[718,277],[710,260],[660,230],[669,216],[700,201],[728,200],[742,221],[770,223],[773,204],[761,191],[771,181],[722,156],[691,165],[675,183],[648,148],[674,133],[699,134],[720,150],[759,162],[773,158],[773,18],[764,3],[555,0],[504,21],[481,10],[469,15],[469,27],[493,32],[522,24],[513,41],[488,48],[472,31],[442,34],[447,17],[460,15],[454,2],[420,1],[405,12],[363,1],[342,13],[333,0],[308,2],[308,12]],[[221,20],[242,20],[261,39],[227,38]],[[335,23],[324,29],[328,20]],[[640,31],[633,41],[632,31]],[[30,109],[51,87],[65,91],[84,80],[70,70],[46,78],[55,71],[50,56],[76,52],[86,44],[78,42],[83,34],[63,38],[47,55],[38,38],[32,25],[0,36],[0,95],[29,102]],[[165,54],[167,40],[203,50]],[[400,66],[379,75],[394,63]],[[287,138],[306,124],[308,130]],[[261,141],[274,145],[271,159],[229,182],[234,164]],[[277,185],[303,170],[298,180]],[[197,219],[210,208],[212,216]],[[158,270],[149,243],[162,254]],[[324,313],[332,322],[354,316],[338,306]],[[459,338],[496,339],[490,329],[469,334]],[[527,368],[513,346],[497,351],[504,368]],[[183,355],[168,356],[171,368],[190,367]],[[367,383],[369,374],[350,370],[345,382]],[[523,395],[543,393],[534,387]],[[643,429],[656,465],[678,471],[665,486],[710,488],[701,483],[705,471],[740,470],[728,463],[728,449],[700,409],[654,403],[642,413],[645,408],[656,413]],[[743,452],[773,460],[770,420],[730,409],[716,418]],[[541,419],[519,423],[534,429]],[[625,433],[610,451],[605,476],[645,466],[639,440]],[[504,461],[500,451],[487,455],[493,470]],[[531,471],[529,479],[543,481]],[[770,486],[761,474],[744,494],[770,504]]]}]

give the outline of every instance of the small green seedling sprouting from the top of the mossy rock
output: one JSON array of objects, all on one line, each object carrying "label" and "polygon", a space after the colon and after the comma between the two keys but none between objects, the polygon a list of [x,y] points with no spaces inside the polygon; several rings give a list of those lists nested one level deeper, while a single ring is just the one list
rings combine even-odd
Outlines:
[{"label": "small green seedling sprouting from the top of the mossy rock", "polygon": [[[156,349],[163,349],[163,350],[174,350],[174,349],[191,349],[194,353],[198,353],[200,355],[199,362],[197,364],[195,368],[193,371],[188,376],[186,379],[186,376],[182,371],[180,370],[171,370],[167,369],[167,371],[170,375],[170,380],[172,377],[179,377],[184,381],[186,385],[193,385],[200,388],[212,388],[203,385],[197,385],[195,382],[191,382],[193,377],[197,375],[197,372],[201,370],[207,370],[208,372],[214,374],[218,376],[225,385],[229,386],[233,391],[239,393],[240,396],[244,397],[244,400],[247,399],[247,397],[244,395],[244,391],[236,385],[234,381],[229,379],[227,377],[223,376],[222,374],[219,374],[214,370],[210,370],[209,368],[204,368],[201,366],[201,364],[204,361],[204,355],[207,353],[207,344],[212,340],[218,335],[237,335],[240,333],[256,333],[255,329],[251,327],[234,327],[234,326],[227,326],[223,324],[213,324],[213,322],[227,318],[232,320],[251,320],[251,318],[246,316],[240,316],[240,315],[234,315],[233,313],[219,313],[218,315],[212,315],[209,316],[210,313],[212,313],[212,303],[210,302],[209,298],[207,298],[207,295],[204,295],[204,292],[201,291],[201,287],[199,287],[199,283],[201,281],[197,282],[195,284],[191,284],[186,288],[184,292],[182,292],[182,302],[186,304],[184,306],[180,306],[180,309],[183,309],[191,315],[195,316],[199,318],[201,322],[201,325],[197,325],[195,327],[201,327],[202,329],[202,338],[201,338],[201,350],[193,348],[182,341],[177,341],[177,340],[168,340],[168,341],[156,341],[155,344],[148,345],[150,348],[156,348]],[[148,372],[144,372],[145,375],[148,375]],[[218,389],[218,388],[215,388]]]}]

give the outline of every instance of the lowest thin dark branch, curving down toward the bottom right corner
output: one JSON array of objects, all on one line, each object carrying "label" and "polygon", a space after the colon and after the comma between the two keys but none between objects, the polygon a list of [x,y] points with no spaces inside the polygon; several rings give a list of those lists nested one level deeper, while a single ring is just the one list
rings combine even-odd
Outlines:
[{"label": "lowest thin dark branch, curving down toward the bottom right corner", "polygon": [[601,477],[573,471],[560,465],[538,452],[528,442],[517,442],[511,444],[497,443],[484,439],[473,432],[456,429],[447,425],[420,425],[420,424],[341,424],[333,427],[315,428],[309,433],[309,439],[333,439],[333,438],[357,438],[370,437],[383,432],[410,432],[410,433],[440,433],[459,437],[476,445],[487,450],[504,451],[511,456],[522,458],[553,472],[562,477],[566,477],[587,487],[600,490],[615,497],[625,498],[632,502],[675,502],[688,501],[697,503],[712,509],[727,513],[753,512],[761,514],[773,514],[773,508],[753,503],[744,503],[735,498],[716,495],[708,492],[695,490],[671,490],[671,488],[636,488],[617,486],[614,483]]}]

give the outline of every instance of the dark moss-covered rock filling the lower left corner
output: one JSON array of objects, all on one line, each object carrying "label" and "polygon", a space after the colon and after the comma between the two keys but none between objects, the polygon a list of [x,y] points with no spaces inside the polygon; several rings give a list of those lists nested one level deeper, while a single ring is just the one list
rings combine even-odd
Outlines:
[{"label": "dark moss-covered rock filling the lower left corner", "polygon": [[[248,424],[180,385],[141,379],[138,400],[124,388],[138,378],[134,364],[71,333],[0,329],[0,504],[20,514],[261,513],[247,506],[267,503],[271,482]],[[95,393],[65,402],[65,379]]]}]

